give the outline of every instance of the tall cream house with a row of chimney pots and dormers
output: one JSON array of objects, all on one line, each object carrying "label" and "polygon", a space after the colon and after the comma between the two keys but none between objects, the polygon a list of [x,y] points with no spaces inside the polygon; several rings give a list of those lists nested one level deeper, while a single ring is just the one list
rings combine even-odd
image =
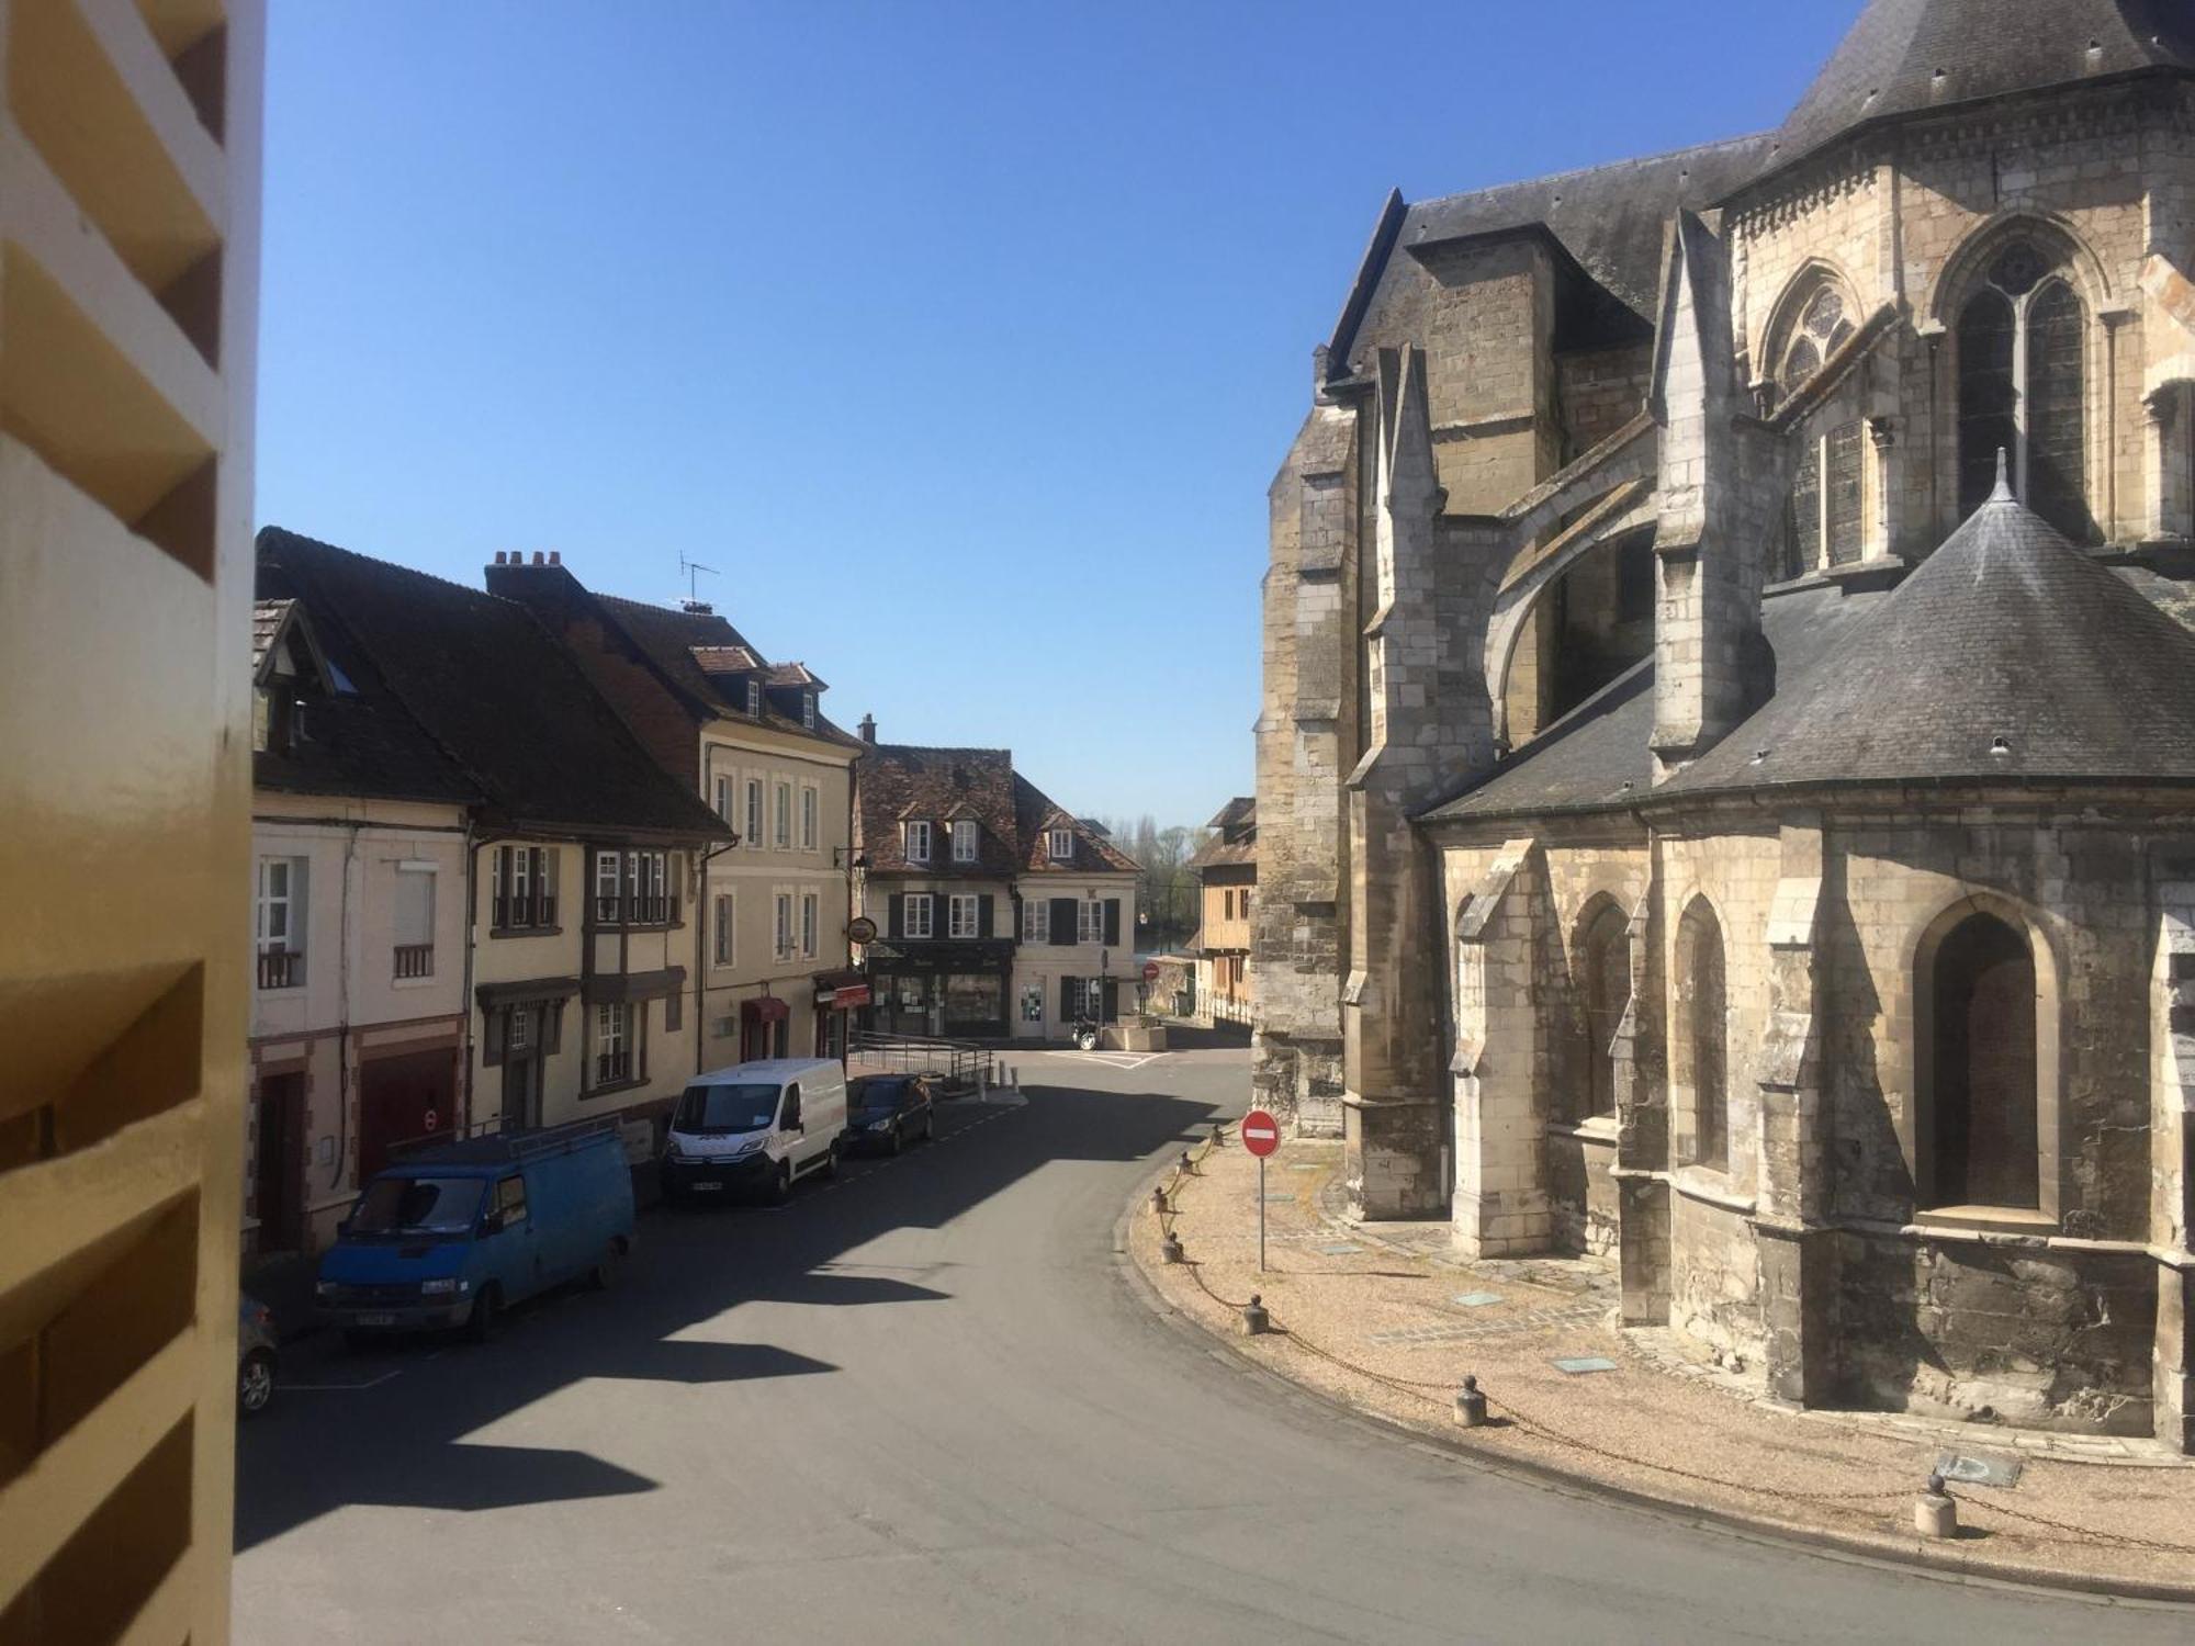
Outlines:
[{"label": "tall cream house with a row of chimney pots and dormers", "polygon": [[702,601],[595,595],[555,555],[498,555],[487,588],[562,639],[656,764],[738,836],[707,852],[689,946],[691,1071],[843,1056],[865,1003],[847,946],[852,766],[806,663],[770,663]]}]

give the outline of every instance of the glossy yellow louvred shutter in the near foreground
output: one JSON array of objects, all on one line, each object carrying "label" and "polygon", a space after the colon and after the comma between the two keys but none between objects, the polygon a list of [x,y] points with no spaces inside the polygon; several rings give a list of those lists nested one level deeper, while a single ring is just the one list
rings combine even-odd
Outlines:
[{"label": "glossy yellow louvred shutter in the near foreground", "polygon": [[11,1642],[228,1637],[261,35],[0,0]]}]

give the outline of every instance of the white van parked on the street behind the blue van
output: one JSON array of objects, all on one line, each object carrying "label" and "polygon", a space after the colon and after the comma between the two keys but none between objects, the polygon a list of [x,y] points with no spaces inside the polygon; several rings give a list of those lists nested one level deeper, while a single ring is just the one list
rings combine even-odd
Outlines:
[{"label": "white van parked on the street behind the blue van", "polygon": [[768,1058],[694,1075],[672,1108],[663,1198],[683,1205],[751,1192],[784,1200],[795,1179],[836,1172],[843,1143],[836,1058]]}]

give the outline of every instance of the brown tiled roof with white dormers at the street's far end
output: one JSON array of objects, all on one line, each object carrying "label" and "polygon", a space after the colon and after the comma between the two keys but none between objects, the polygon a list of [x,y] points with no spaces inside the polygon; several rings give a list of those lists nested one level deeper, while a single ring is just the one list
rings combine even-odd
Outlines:
[{"label": "brown tiled roof with white dormers at the street's far end", "polygon": [[[1005,878],[1018,873],[1135,871],[1135,860],[1087,825],[1069,816],[1029,779],[1014,773],[1008,748],[922,748],[915,744],[865,744],[854,768],[856,845],[871,873],[920,873],[939,878]],[[977,860],[953,863],[944,823],[975,816]],[[931,860],[909,863],[902,821],[922,819],[935,827]],[[1071,827],[1076,856],[1051,863],[1045,830]]]}]

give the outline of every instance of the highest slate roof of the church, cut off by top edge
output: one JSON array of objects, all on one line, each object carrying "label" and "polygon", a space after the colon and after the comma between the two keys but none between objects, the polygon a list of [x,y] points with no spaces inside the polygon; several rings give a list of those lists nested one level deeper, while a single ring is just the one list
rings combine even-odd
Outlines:
[{"label": "highest slate roof of the church, cut off by top edge", "polygon": [[2195,70],[2186,0],[1868,0],[1771,167],[1875,121],[2149,70]]}]

